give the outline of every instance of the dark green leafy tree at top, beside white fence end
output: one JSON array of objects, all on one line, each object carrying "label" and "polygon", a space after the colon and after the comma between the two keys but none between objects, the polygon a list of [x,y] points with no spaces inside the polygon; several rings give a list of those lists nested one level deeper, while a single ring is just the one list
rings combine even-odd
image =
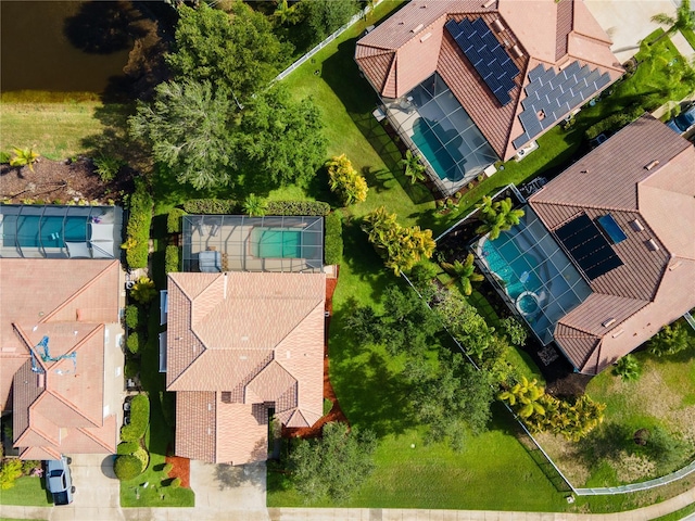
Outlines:
[{"label": "dark green leafy tree at top, beside white fence end", "polygon": [[201,3],[184,3],[176,26],[176,50],[166,61],[177,79],[210,80],[245,103],[280,72],[289,49],[273,34],[273,25],[242,1],[229,12]]}]

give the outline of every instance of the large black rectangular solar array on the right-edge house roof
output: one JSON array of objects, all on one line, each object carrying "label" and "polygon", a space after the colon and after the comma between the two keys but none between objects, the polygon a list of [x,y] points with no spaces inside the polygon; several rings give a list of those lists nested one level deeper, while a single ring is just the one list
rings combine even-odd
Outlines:
[{"label": "large black rectangular solar array on the right-edge house roof", "polygon": [[620,257],[586,214],[559,227],[555,237],[590,280],[622,266]]}]

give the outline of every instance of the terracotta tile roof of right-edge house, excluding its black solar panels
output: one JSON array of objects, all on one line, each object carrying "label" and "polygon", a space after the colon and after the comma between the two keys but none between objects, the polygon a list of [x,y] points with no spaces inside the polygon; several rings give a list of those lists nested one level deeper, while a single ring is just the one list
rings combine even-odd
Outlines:
[{"label": "terracotta tile roof of right-edge house, excluding its black solar panels", "polygon": [[[579,214],[610,214],[627,236],[622,266],[559,320],[555,340],[597,373],[695,307],[695,149],[644,115],[530,198],[549,230]],[[593,339],[593,340],[592,340]]]}]

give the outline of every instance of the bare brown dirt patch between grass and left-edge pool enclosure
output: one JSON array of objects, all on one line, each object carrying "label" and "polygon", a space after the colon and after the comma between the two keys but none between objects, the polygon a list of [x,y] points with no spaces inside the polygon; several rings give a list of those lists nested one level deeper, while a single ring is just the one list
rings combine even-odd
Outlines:
[{"label": "bare brown dirt patch between grass and left-edge pool enclosure", "polygon": [[42,204],[78,204],[80,201],[108,204],[118,201],[122,192],[131,191],[131,176],[128,173],[118,180],[104,183],[94,174],[91,160],[50,161],[41,157],[34,164],[34,171],[27,166],[17,168],[9,164],[0,165],[0,200],[5,203],[31,201]]}]

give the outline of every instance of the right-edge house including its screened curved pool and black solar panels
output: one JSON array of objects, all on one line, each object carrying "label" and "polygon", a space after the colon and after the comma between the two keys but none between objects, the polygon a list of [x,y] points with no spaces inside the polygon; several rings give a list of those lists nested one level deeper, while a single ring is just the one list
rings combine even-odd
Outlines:
[{"label": "right-edge house including its screened curved pool and black solar panels", "polygon": [[649,115],[482,240],[482,266],[539,339],[597,374],[695,307],[695,149]]}]

